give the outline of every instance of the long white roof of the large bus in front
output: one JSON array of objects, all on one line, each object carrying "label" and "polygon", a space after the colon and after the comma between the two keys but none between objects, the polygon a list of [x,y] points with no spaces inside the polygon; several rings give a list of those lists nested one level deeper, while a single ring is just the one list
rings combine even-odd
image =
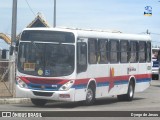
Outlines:
[{"label": "long white roof of the large bus in front", "polygon": [[106,30],[85,30],[73,28],[25,28],[24,30],[44,30],[44,31],[63,31],[72,32],[76,37],[81,38],[109,38],[109,39],[124,39],[124,40],[144,40],[150,41],[150,35],[140,34],[125,34],[120,31],[106,31]]}]

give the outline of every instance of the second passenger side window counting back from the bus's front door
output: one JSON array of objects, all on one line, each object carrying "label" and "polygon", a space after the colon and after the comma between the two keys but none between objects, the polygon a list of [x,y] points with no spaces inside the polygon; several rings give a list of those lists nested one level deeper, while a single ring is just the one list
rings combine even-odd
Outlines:
[{"label": "second passenger side window counting back from the bus's front door", "polygon": [[108,41],[106,39],[99,39],[98,48],[99,48],[98,62],[100,64],[108,63],[108,52],[107,52]]}]

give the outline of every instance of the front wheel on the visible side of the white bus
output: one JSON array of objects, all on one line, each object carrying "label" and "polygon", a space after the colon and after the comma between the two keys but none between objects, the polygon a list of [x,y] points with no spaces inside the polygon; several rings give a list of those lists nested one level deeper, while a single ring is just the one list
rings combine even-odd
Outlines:
[{"label": "front wheel on the visible side of the white bus", "polygon": [[89,85],[86,92],[86,100],[83,102],[84,105],[92,105],[95,102],[95,86]]}]

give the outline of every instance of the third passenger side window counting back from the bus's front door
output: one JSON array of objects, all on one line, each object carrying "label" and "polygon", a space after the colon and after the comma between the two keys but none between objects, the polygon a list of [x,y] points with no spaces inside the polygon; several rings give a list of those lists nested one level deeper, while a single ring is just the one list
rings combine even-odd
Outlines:
[{"label": "third passenger side window counting back from the bus's front door", "polygon": [[110,63],[119,62],[118,46],[118,40],[110,40]]}]

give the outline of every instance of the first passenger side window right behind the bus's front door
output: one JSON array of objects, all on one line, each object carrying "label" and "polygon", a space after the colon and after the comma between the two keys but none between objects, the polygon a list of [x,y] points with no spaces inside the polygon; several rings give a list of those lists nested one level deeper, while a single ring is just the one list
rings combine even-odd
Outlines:
[{"label": "first passenger side window right behind the bus's front door", "polygon": [[97,63],[97,39],[88,39],[88,58],[90,64]]}]

